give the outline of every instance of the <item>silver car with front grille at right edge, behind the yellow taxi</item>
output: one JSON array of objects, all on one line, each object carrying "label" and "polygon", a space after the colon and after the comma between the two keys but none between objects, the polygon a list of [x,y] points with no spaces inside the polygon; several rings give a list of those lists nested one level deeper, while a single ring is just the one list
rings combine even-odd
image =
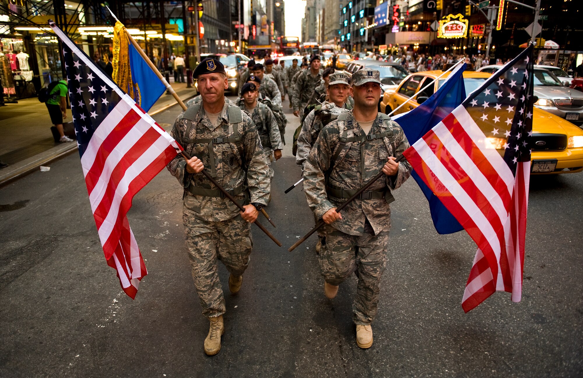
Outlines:
[{"label": "silver car with front grille at right edge, behind the yellow taxi", "polygon": [[583,93],[567,88],[557,76],[546,69],[535,68],[535,106],[559,115],[567,121],[583,122]]}]

